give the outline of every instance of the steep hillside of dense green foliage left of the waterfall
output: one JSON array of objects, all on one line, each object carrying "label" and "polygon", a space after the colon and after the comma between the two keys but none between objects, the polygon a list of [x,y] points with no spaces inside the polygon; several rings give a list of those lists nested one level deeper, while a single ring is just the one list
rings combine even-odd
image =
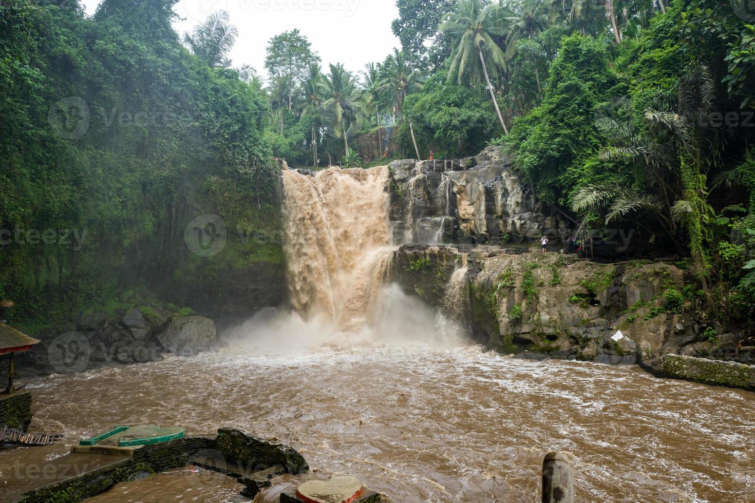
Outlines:
[{"label": "steep hillside of dense green foliage left of the waterfall", "polygon": [[267,245],[186,253],[204,213],[230,232],[278,225],[278,182],[264,94],[183,48],[173,3],[0,6],[0,297],[32,332],[127,284],[280,260]]}]

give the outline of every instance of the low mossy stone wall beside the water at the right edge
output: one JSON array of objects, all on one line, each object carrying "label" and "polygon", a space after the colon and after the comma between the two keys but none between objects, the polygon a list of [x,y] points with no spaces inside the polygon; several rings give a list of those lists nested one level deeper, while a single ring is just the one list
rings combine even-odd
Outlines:
[{"label": "low mossy stone wall beside the water at the right edge", "polygon": [[659,375],[673,379],[755,391],[755,366],[744,363],[667,354],[661,369]]}]

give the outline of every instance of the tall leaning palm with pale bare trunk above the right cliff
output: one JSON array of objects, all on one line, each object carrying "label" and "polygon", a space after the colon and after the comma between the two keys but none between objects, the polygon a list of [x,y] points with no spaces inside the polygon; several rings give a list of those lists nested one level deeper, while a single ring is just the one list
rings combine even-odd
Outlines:
[{"label": "tall leaning palm with pale bare trunk above the right cliff", "polygon": [[490,91],[490,97],[495,106],[495,112],[498,114],[498,120],[501,121],[501,127],[504,128],[504,134],[509,130],[501,115],[501,109],[498,107],[498,100],[495,97],[495,90],[490,83],[488,75],[487,59],[497,68],[505,68],[506,56],[504,51],[498,47],[493,40],[493,36],[506,36],[507,32],[501,26],[498,26],[498,10],[500,4],[490,4],[482,7],[480,0],[459,0],[457,11],[445,14],[443,22],[439,26],[440,32],[447,32],[456,37],[456,48],[452,55],[451,69],[448,71],[448,80],[450,81],[455,74],[458,75],[458,81],[461,84],[462,77],[470,70],[473,54],[479,55],[479,62],[482,66],[482,74],[485,75],[485,82]]}]

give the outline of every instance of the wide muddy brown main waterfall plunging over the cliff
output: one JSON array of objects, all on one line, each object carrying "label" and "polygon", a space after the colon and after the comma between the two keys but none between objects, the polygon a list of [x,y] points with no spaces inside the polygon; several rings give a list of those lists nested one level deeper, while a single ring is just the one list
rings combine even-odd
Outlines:
[{"label": "wide muddy brown main waterfall plunging over the cliff", "polygon": [[387,167],[283,171],[284,249],[291,305],[339,330],[370,320],[390,274]]}]

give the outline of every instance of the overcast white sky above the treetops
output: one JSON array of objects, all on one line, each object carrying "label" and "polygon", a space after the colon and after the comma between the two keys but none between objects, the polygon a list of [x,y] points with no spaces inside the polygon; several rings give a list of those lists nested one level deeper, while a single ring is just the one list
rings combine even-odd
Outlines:
[{"label": "overcast white sky above the treetops", "polygon": [[[94,14],[101,0],[82,0],[87,14]],[[239,29],[230,54],[234,66],[248,63],[266,75],[267,41],[298,28],[312,42],[322,63],[344,63],[358,72],[369,61],[382,61],[398,38],[390,23],[398,17],[395,0],[180,0],[175,11],[183,20],[174,28],[183,35],[212,11],[228,11]]]}]

